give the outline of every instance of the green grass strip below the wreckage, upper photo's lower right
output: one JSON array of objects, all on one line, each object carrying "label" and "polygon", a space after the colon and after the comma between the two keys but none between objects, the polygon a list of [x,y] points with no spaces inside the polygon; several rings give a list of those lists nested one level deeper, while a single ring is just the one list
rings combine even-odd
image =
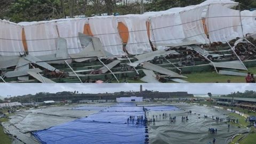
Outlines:
[{"label": "green grass strip below the wreckage, upper photo's lower right", "polygon": [[[256,67],[248,68],[253,74],[256,74]],[[239,70],[241,73],[247,73],[246,70]],[[228,75],[220,75],[215,71],[211,72],[203,72],[203,73],[191,73],[191,74],[183,74],[188,78],[182,78],[185,81],[190,83],[227,83],[227,80],[230,79],[231,83],[245,83],[244,76],[228,76]]]}]

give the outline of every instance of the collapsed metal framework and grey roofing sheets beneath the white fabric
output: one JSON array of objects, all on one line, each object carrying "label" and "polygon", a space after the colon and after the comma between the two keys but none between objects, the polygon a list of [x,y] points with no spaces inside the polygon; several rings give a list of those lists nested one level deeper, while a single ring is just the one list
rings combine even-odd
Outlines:
[{"label": "collapsed metal framework and grey roofing sheets beneath the white fabric", "polygon": [[[28,76],[31,76],[42,83],[62,82],[62,78],[74,79],[74,77],[77,77],[81,83],[95,82],[99,79],[105,82],[111,82],[113,81],[111,78],[112,75],[117,82],[120,82],[118,77],[126,79],[137,79],[136,77],[142,77],[140,78],[140,81],[148,83],[166,81],[186,83],[186,77],[181,74],[186,73],[186,70],[184,71],[184,69],[189,67],[200,66],[203,68],[206,66],[213,66],[216,73],[237,76],[244,76],[244,73],[227,72],[225,69],[218,71],[218,69],[229,68],[247,70],[243,61],[240,59],[241,55],[237,54],[236,47],[239,45],[239,42],[241,42],[238,40],[234,42],[233,47],[230,43],[227,43],[228,45],[222,44],[222,46],[219,46],[219,51],[211,51],[214,49],[213,47],[210,47],[210,49],[204,49],[202,46],[200,47],[199,45],[193,44],[170,46],[166,47],[166,50],[157,50],[140,55],[130,55],[129,57],[127,55],[125,57],[115,57],[102,49],[102,44],[99,38],[92,36],[87,37],[84,34],[79,35],[81,35],[79,40],[86,49],[77,54],[68,55],[66,40],[59,38],[59,48],[55,56],[45,55],[44,57],[34,57],[32,55],[25,54],[20,57],[13,58],[1,57],[1,81],[34,81],[31,78],[28,80]],[[243,46],[254,46],[254,40],[252,40],[252,42],[246,40],[245,42],[247,44],[242,43]],[[252,52],[256,53],[255,50]],[[253,59],[251,62],[256,61],[255,57],[251,59]],[[98,63],[97,60],[100,63]],[[210,63],[207,61],[210,61]],[[66,63],[69,69],[71,69],[71,72],[69,72],[69,70],[65,68],[65,65],[61,63]],[[93,65],[91,63],[98,63],[98,65]],[[76,67],[76,65],[82,65],[85,67]],[[31,68],[29,68],[29,66]],[[55,68],[54,66],[58,66],[61,69]],[[108,71],[110,71],[110,75],[107,73]],[[93,81],[94,78],[90,80],[91,77],[97,78]],[[4,79],[6,79],[6,81]],[[74,80],[74,82],[77,81]]]}]

